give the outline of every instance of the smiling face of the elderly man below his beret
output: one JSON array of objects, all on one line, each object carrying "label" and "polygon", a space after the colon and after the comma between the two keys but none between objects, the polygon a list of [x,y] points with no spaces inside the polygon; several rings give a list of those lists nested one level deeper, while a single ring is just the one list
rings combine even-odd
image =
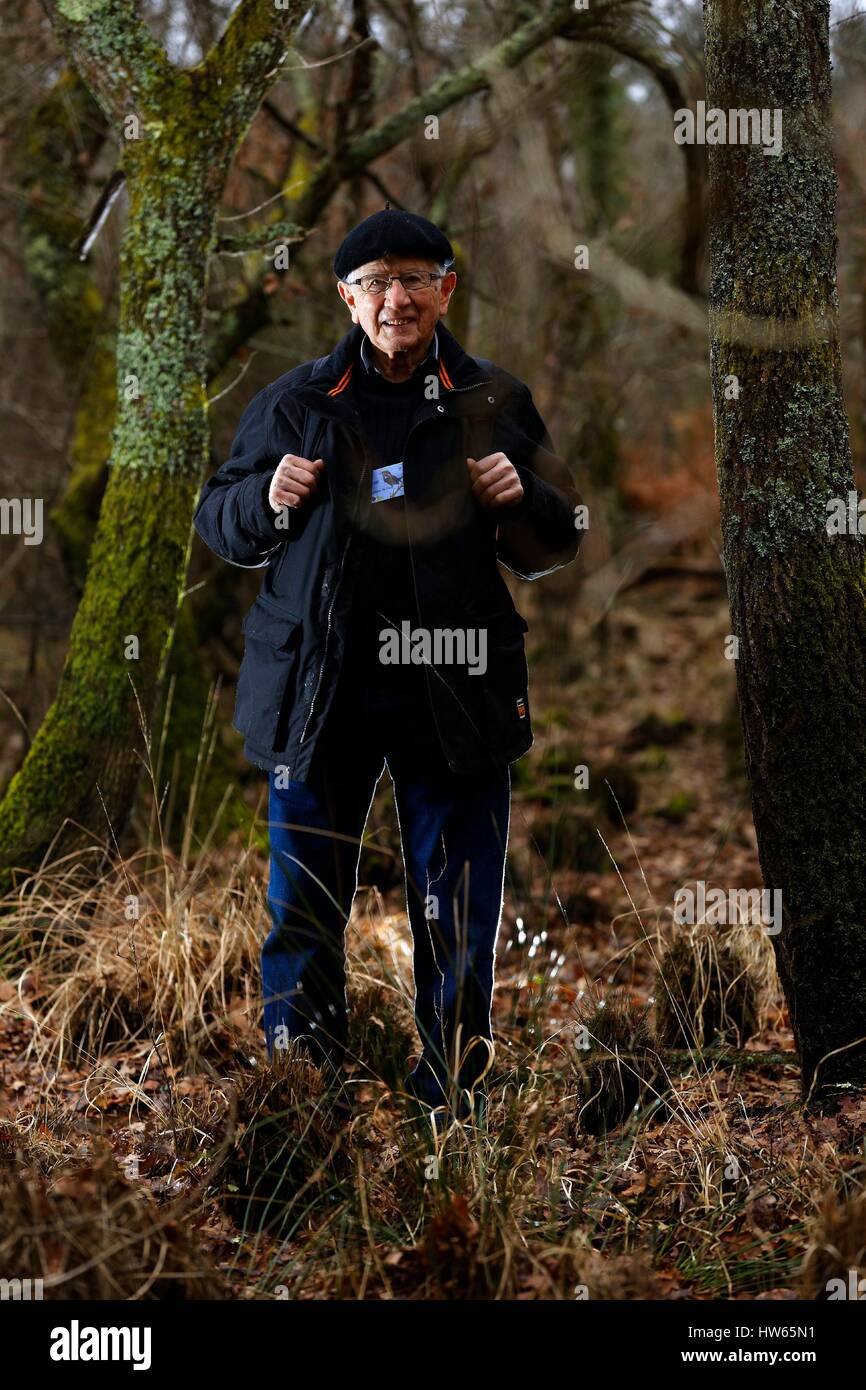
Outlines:
[{"label": "smiling face of the elderly man below his beret", "polygon": [[[435,271],[436,265],[423,256],[386,256],[359,265],[352,272],[352,279],[375,274],[403,275],[410,270]],[[442,279],[434,279],[430,289],[414,291],[411,295],[406,293],[398,279],[391,282],[384,295],[367,295],[360,285],[346,285],[343,281],[338,288],[349,306],[352,322],[361,325],[374,348],[393,357],[398,353],[411,356],[430,342],[439,318],[448,311],[456,284],[457,277],[452,270]]]}]

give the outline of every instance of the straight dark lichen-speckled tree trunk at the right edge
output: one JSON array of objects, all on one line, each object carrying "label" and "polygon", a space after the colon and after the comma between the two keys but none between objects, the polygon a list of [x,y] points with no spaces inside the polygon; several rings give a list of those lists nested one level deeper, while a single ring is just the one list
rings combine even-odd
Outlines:
[{"label": "straight dark lichen-speckled tree trunk at the right edge", "polygon": [[716,145],[710,328],[738,694],[765,884],[803,1094],[866,1081],[863,541],[835,289],[827,0],[705,0],[708,110],[783,111],[783,153]]}]

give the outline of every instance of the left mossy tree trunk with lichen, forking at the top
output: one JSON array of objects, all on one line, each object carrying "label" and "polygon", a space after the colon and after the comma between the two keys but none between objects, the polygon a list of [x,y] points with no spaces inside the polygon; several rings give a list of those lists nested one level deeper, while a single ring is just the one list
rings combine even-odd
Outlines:
[{"label": "left mossy tree trunk with lichen, forking at the top", "polygon": [[122,138],[117,420],[57,698],[0,805],[3,862],[122,828],[186,574],[207,461],[203,303],[235,149],[300,0],[240,0],[203,63],[174,68],[131,0],[44,0]]}]

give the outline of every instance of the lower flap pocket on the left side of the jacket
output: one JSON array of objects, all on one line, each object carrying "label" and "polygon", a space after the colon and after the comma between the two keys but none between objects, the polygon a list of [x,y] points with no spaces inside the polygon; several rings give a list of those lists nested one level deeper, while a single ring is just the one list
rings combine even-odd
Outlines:
[{"label": "lower flap pocket on the left side of the jacket", "polygon": [[267,595],[259,595],[240,631],[245,651],[232,723],[259,748],[274,749],[279,716],[291,698],[297,669],[302,620]]}]

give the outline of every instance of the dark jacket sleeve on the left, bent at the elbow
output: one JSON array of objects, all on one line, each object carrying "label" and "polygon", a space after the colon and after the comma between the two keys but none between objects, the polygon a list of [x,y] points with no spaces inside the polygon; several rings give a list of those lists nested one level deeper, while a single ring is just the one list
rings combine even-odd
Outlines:
[{"label": "dark jacket sleeve on the left, bent at the elbow", "polygon": [[204,484],[193,516],[196,531],[215,555],[250,570],[264,569],[289,534],[277,525],[278,513],[268,502],[285,452],[272,445],[271,411],[265,386],[240,416],[231,453]]}]

